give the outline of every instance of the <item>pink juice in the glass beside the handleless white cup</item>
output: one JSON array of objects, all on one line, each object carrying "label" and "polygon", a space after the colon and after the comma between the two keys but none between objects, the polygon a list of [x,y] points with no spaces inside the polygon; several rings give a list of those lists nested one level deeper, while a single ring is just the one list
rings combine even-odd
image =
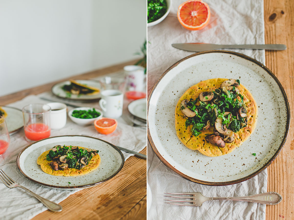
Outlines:
[{"label": "pink juice in the glass beside the handleless white cup", "polygon": [[24,134],[32,141],[38,141],[50,136],[51,129],[42,123],[30,124],[25,127]]}]

